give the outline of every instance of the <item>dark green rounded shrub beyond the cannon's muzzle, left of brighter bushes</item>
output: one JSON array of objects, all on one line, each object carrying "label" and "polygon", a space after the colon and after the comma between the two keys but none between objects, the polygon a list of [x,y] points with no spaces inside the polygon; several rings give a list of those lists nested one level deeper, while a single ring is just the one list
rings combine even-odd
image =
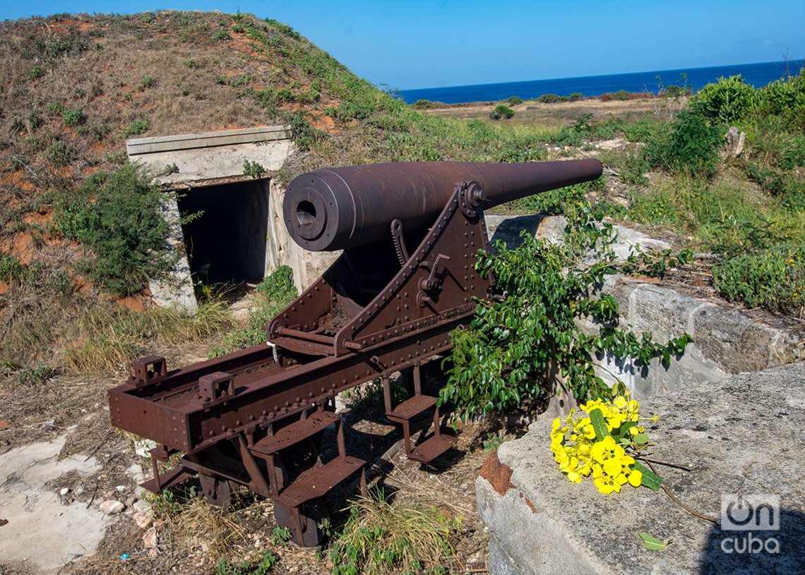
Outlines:
[{"label": "dark green rounded shrub beyond the cannon's muzzle, left of brighter bushes", "polygon": [[700,114],[683,110],[671,123],[669,133],[648,143],[644,158],[656,168],[710,177],[720,161],[718,150],[723,143],[721,129]]}]

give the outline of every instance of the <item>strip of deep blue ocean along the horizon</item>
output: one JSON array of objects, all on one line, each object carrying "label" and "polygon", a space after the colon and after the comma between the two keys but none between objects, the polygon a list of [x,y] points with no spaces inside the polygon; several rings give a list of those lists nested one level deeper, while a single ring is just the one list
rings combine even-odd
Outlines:
[{"label": "strip of deep blue ocean along the horizon", "polygon": [[[803,64],[788,62],[791,74],[798,74]],[[705,84],[741,74],[745,82],[755,88],[765,86],[786,74],[786,62],[764,62],[762,64],[735,64],[733,66],[713,66],[711,68],[682,68],[679,70],[655,70],[654,72],[634,72],[631,74],[609,74],[608,76],[581,76],[579,78],[555,78],[553,80],[528,80],[525,82],[502,82],[500,84],[475,84],[472,86],[448,86],[445,88],[420,88],[401,90],[400,95],[408,104],[417,100],[440,101],[445,104],[461,102],[481,102],[506,100],[518,96],[523,100],[540,97],[543,94],[570,96],[581,92],[584,96],[599,96],[604,92],[658,92],[658,78],[664,85],[684,83],[698,90]]]}]

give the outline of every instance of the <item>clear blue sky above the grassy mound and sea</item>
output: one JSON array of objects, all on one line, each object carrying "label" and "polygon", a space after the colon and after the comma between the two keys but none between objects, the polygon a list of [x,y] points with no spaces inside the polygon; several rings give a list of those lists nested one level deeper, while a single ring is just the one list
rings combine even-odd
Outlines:
[{"label": "clear blue sky above the grassy mound and sea", "polygon": [[399,89],[805,59],[802,0],[6,0],[0,19],[160,9],[275,18],[358,76]]}]

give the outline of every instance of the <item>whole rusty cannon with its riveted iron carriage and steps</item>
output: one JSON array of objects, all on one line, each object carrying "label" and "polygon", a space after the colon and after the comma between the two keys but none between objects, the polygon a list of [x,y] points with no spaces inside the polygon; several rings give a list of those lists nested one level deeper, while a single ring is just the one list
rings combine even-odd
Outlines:
[{"label": "whole rusty cannon with its riveted iron carriage and steps", "polygon": [[[398,162],[294,179],[283,201],[288,232],[303,248],[343,253],[268,323],[266,343],[172,370],[144,357],[109,390],[112,424],[157,443],[143,487],[159,493],[197,476],[219,505],[247,487],[273,500],[297,544],[319,544],[324,496],[349,478],[363,491],[366,482],[365,460],[347,454],[335,396],[380,378],[407,457],[431,462],[449,450],[456,438],[440,429],[444,414],[423,392],[420,369],[449,351],[476,298],[493,296],[493,278],[474,268],[488,244],[483,209],[600,175],[597,160]],[[413,383],[397,405],[394,372]],[[432,429],[428,417],[414,442],[411,421],[431,412]],[[328,428],[337,453],[324,461]],[[160,472],[177,452],[176,466]]]}]

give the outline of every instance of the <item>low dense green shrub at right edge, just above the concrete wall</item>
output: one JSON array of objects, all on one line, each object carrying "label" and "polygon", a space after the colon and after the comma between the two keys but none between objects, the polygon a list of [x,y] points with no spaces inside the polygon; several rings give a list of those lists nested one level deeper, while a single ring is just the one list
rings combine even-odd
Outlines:
[{"label": "low dense green shrub at right edge, just above the concrete wall", "polygon": [[716,291],[730,301],[801,315],[805,245],[730,258],[713,267],[712,280]]}]

